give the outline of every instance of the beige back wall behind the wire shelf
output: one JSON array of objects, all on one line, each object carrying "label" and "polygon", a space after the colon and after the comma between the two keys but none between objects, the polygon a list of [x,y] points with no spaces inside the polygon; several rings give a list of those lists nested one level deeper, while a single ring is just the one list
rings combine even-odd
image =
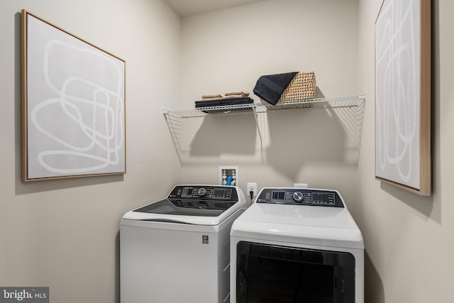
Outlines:
[{"label": "beige back wall behind the wire shelf", "polygon": [[[357,0],[260,1],[183,18],[182,28],[184,108],[202,94],[232,91],[259,101],[260,76],[307,70],[315,72],[316,97],[365,93],[357,89]],[[357,214],[359,136],[345,125],[358,120],[313,109],[260,114],[258,123],[262,145],[253,114],[206,117],[182,161],[183,182],[218,183],[219,165],[238,165],[243,190],[246,182],[338,189]]]}]

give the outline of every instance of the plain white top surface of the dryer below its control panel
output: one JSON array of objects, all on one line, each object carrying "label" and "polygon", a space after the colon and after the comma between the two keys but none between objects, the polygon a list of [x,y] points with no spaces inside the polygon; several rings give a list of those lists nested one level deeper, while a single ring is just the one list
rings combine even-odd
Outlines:
[{"label": "plain white top surface of the dryer below its control panel", "polygon": [[255,203],[233,223],[231,236],[364,248],[360,229],[348,209],[325,206]]}]

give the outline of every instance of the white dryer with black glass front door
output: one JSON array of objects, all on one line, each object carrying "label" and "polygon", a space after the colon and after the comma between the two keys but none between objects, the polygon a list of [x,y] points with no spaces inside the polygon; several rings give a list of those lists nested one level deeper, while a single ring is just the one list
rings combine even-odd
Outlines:
[{"label": "white dryer with black glass front door", "polygon": [[231,228],[231,303],[364,302],[364,243],[341,194],[264,188]]}]

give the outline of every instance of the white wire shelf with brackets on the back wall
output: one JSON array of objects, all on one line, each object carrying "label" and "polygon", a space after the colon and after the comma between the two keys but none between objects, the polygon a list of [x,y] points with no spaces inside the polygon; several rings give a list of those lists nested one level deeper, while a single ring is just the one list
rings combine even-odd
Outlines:
[{"label": "white wire shelf with brackets on the back wall", "polygon": [[[279,101],[276,105],[269,104],[265,101],[252,104],[238,104],[238,105],[226,105],[226,106],[206,106],[199,108],[188,108],[188,109],[162,109],[162,114],[167,121],[172,140],[175,143],[175,147],[179,153],[189,148],[187,143],[186,133],[188,131],[194,131],[203,122],[203,119],[207,115],[227,115],[227,114],[254,114],[255,124],[257,126],[258,135],[260,137],[260,143],[262,143],[262,132],[260,131],[260,123],[258,123],[258,115],[271,113],[272,111],[280,110],[294,110],[294,109],[348,109],[358,108],[361,110],[361,121],[362,121],[362,110],[364,109],[366,94],[358,94],[344,97],[324,97],[317,99],[306,99],[298,101]],[[188,123],[187,120],[199,121],[194,123]],[[201,120],[200,120],[201,119]],[[190,141],[191,139],[189,139]],[[185,143],[186,141],[186,143]],[[190,143],[189,143],[190,145]]]}]

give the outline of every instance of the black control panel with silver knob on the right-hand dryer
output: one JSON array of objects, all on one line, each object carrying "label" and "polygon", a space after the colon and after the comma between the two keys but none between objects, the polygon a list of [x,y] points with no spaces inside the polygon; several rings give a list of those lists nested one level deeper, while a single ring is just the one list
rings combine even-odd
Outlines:
[{"label": "black control panel with silver knob on the right-hand dryer", "polygon": [[329,189],[263,188],[255,202],[344,207],[340,194]]}]

